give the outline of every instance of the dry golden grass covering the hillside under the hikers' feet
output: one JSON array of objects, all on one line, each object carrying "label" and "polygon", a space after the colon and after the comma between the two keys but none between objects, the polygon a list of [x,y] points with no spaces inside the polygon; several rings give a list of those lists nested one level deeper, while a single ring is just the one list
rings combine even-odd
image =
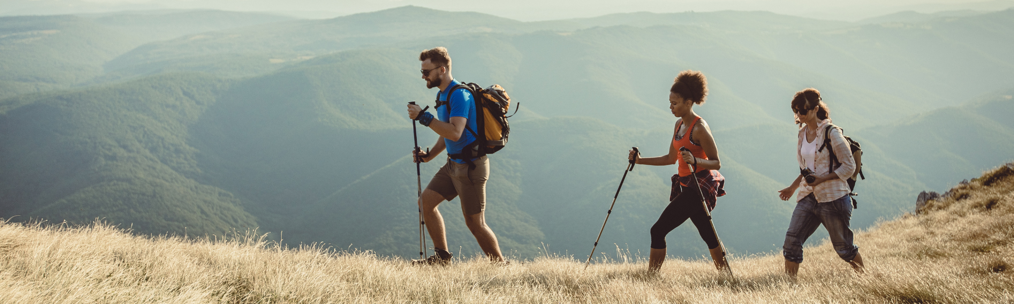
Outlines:
[{"label": "dry golden grass covering the hillside under the hikers' feet", "polygon": [[[986,185],[989,184],[989,185]],[[280,248],[254,233],[224,240],[132,236],[108,225],[0,224],[2,303],[1012,303],[1014,170],[996,169],[859,233],[867,274],[830,244],[807,247],[799,279],[780,254],[583,263],[541,257],[451,267],[318,247]],[[773,235],[773,239],[782,236]]]}]

